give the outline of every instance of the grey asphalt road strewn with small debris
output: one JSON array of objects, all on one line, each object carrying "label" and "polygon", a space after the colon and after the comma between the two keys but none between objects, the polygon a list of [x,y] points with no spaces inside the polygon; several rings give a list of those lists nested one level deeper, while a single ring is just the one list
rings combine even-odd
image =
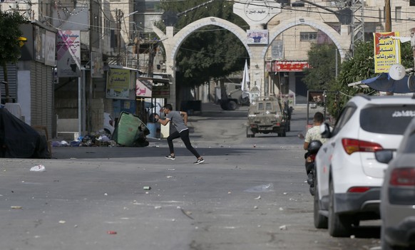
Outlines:
[{"label": "grey asphalt road strewn with small debris", "polygon": [[155,139],[1,159],[1,249],[380,249],[379,221],[350,238],[314,229],[297,137],[305,113],[294,110],[287,137],[247,138],[246,107],[204,104],[189,120],[202,165],[180,140],[166,160],[167,142]]}]

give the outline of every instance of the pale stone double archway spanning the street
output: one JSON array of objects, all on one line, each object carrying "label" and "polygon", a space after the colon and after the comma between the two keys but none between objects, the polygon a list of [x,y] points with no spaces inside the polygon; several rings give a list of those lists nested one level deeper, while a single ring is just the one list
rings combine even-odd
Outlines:
[{"label": "pale stone double archway spanning the street", "polygon": [[[185,26],[182,30],[178,33],[173,33],[173,27],[166,27],[166,33],[163,33],[160,29],[154,27],[153,30],[155,33],[160,37],[160,42],[163,43],[165,47],[166,53],[166,73],[173,75],[173,85],[170,86],[170,98],[168,99],[169,103],[172,103],[173,106],[176,104],[175,101],[175,56],[178,53],[180,45],[183,43],[185,38],[190,36],[191,33],[202,28],[204,26],[220,26],[222,28],[227,29],[227,31],[232,32],[235,36],[242,42],[245,46],[248,55],[250,56],[250,65],[255,65],[254,67],[250,68],[250,75],[251,81],[252,78],[256,79],[259,84],[261,92],[265,89],[265,56],[268,49],[271,46],[271,42],[277,38],[282,32],[287,30],[288,28],[292,28],[298,25],[307,25],[312,26],[314,28],[318,28],[319,30],[323,31],[324,33],[332,39],[334,44],[337,46],[340,57],[342,61],[347,57],[347,52],[349,51],[350,47],[350,35],[348,34],[348,26],[341,26],[341,32],[337,33],[334,28],[324,24],[324,22],[319,21],[317,19],[312,19],[309,17],[303,17],[301,19],[287,19],[282,21],[278,26],[269,30],[269,38],[270,43],[265,46],[252,46],[251,44],[247,43],[247,34],[246,31],[240,28],[239,26],[232,24],[230,21],[226,21],[224,19],[220,19],[214,16],[206,17],[204,19],[199,19],[198,21],[194,21],[188,26]],[[266,93],[264,93],[266,94]]]}]

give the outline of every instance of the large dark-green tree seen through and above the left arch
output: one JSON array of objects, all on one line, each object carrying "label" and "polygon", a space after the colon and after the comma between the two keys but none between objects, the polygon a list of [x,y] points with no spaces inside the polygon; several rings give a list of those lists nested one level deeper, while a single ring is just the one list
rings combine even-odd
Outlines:
[{"label": "large dark-green tree seen through and above the left arch", "polygon": [[[193,21],[215,16],[241,27],[248,27],[245,21],[233,14],[229,1],[218,0],[195,8],[205,0],[161,1],[161,6],[170,13],[183,13],[175,24],[175,31],[184,28]],[[188,11],[193,9],[191,11]],[[163,24],[158,24],[163,28]],[[176,78],[180,84],[198,86],[211,78],[220,78],[234,71],[241,71],[247,51],[242,42],[230,31],[220,26],[205,26],[193,32],[180,46],[176,56],[179,68]]]}]

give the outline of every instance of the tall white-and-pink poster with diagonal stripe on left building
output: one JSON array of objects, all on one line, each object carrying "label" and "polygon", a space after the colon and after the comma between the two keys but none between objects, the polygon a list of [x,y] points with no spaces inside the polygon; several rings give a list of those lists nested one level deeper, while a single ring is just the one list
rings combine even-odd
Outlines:
[{"label": "tall white-and-pink poster with diagonal stripe on left building", "polygon": [[58,31],[56,53],[58,77],[81,76],[81,31]]}]

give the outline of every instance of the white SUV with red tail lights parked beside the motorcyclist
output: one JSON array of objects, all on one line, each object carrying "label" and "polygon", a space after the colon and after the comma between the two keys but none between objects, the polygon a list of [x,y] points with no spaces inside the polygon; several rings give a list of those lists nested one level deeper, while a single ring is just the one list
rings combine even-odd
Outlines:
[{"label": "white SUV with red tail lights parked beside the motorcyclist", "polygon": [[317,153],[314,226],[331,236],[350,236],[361,220],[379,219],[380,189],[387,165],[374,152],[396,150],[415,116],[412,96],[357,95],[340,113]]}]

